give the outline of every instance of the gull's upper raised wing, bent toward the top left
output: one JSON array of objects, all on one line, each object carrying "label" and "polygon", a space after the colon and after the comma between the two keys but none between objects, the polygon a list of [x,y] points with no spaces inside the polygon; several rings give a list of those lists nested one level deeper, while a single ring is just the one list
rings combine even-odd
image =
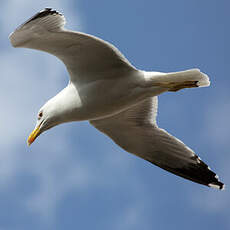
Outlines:
[{"label": "gull's upper raised wing, bent toward the top left", "polygon": [[65,22],[62,14],[46,8],[10,35],[11,44],[55,55],[64,62],[73,82],[120,77],[136,70],[113,45],[89,34],[66,30]]}]

